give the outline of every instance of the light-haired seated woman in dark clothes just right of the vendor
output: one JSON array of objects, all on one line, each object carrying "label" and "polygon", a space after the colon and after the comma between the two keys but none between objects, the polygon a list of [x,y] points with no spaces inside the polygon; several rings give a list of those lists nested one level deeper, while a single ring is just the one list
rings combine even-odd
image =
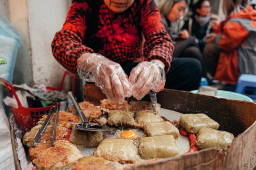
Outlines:
[{"label": "light-haired seated woman in dark clothes just right of the vendor", "polygon": [[186,29],[178,30],[177,21],[183,16],[186,7],[186,0],[160,0],[158,5],[163,26],[175,44],[173,58],[197,59],[201,63],[202,77],[207,77],[203,56],[198,48],[198,40],[194,36],[189,36]]}]

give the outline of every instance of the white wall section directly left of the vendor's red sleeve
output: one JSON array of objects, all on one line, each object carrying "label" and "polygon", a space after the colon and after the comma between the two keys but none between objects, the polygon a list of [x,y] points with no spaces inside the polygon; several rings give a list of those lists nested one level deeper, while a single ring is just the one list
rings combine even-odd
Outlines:
[{"label": "white wall section directly left of the vendor's red sleeve", "polygon": [[32,74],[35,85],[58,87],[64,68],[52,56],[51,43],[71,5],[69,0],[27,0]]}]

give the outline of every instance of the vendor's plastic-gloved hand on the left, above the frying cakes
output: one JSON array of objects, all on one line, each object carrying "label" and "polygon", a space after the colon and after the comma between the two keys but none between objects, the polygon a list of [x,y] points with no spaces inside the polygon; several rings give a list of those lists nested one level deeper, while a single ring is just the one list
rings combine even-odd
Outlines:
[{"label": "vendor's plastic-gloved hand on the left, above the frying cakes", "polygon": [[83,54],[77,60],[77,72],[81,79],[94,82],[107,98],[122,104],[131,96],[131,84],[122,67],[101,54]]}]

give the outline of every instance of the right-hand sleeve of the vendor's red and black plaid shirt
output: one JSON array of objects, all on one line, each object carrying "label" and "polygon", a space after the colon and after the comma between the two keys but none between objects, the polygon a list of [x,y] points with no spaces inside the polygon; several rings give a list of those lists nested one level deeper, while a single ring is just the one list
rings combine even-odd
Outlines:
[{"label": "right-hand sleeve of the vendor's red and black plaid shirt", "polygon": [[141,25],[145,36],[144,54],[147,60],[160,59],[165,64],[166,73],[171,67],[174,45],[161,22],[160,11],[154,0],[141,0]]}]

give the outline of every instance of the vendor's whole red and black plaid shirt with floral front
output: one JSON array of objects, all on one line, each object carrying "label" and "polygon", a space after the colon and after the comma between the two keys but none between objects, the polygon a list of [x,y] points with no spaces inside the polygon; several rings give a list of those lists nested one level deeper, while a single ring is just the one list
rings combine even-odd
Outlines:
[{"label": "vendor's whole red and black plaid shirt with floral front", "polygon": [[167,73],[173,48],[154,0],[134,0],[118,14],[103,0],[74,0],[63,28],[52,41],[55,59],[73,73],[76,60],[93,52],[120,64],[160,59]]}]

